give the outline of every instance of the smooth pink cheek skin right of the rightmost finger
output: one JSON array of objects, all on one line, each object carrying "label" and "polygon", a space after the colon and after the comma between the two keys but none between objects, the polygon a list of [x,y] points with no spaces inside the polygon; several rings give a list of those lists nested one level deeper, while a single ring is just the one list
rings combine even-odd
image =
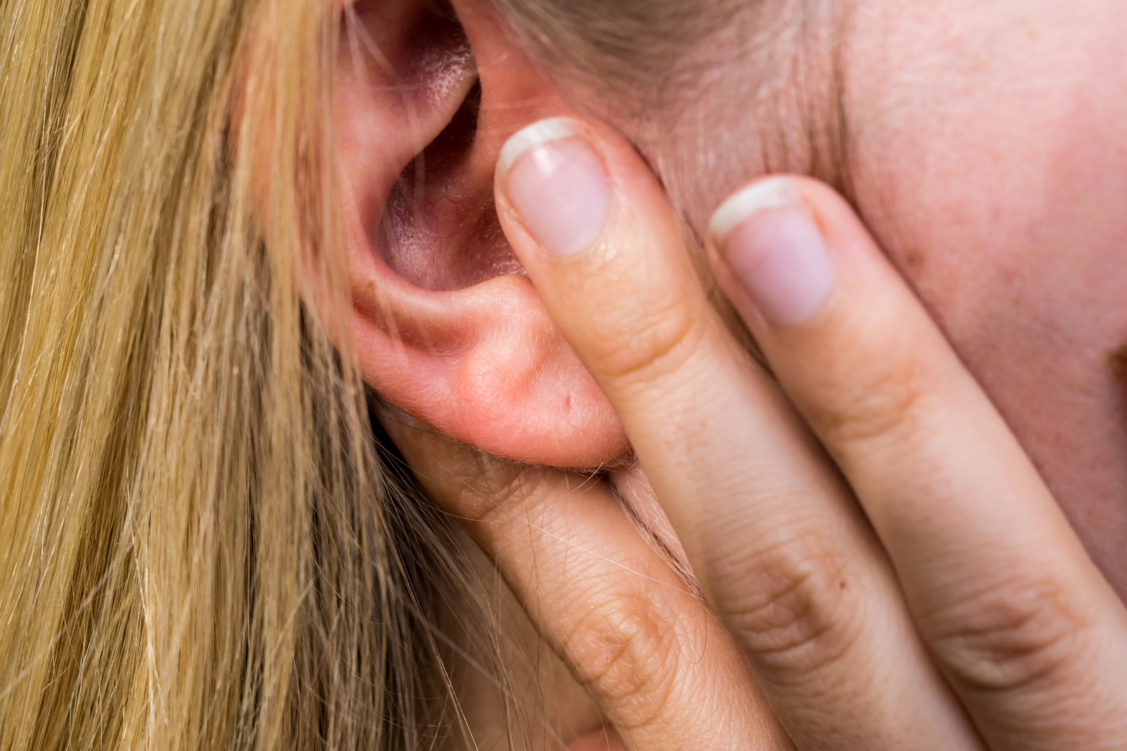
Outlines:
[{"label": "smooth pink cheek skin right of the rightmost finger", "polygon": [[866,18],[855,175],[878,240],[1127,600],[1127,23],[1081,5]]}]

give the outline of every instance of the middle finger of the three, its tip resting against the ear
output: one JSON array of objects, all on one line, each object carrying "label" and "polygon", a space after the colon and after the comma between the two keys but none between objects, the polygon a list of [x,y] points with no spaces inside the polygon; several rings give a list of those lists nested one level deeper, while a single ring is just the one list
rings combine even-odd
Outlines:
[{"label": "middle finger of the three, its tip resting against the ear", "polygon": [[629,144],[534,125],[503,152],[497,204],[799,748],[978,748],[848,488],[710,308]]}]

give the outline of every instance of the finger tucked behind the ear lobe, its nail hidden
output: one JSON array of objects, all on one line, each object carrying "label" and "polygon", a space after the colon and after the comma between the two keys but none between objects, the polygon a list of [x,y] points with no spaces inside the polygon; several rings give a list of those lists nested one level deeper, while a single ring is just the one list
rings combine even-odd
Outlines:
[{"label": "finger tucked behind the ear lobe, its nail hidden", "polygon": [[[517,467],[384,422],[629,749],[792,748],[737,647],[638,534],[607,485]],[[618,736],[609,736],[610,748]]]}]

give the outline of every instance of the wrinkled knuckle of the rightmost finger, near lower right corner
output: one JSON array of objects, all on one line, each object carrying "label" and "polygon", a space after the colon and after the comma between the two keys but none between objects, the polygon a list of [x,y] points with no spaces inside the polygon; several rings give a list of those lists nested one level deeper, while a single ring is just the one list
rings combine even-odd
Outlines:
[{"label": "wrinkled knuckle of the rightmost finger, near lower right corner", "polygon": [[1051,684],[1076,664],[1089,633],[1083,609],[1050,578],[1017,578],[926,617],[932,648],[957,683],[983,693]]}]

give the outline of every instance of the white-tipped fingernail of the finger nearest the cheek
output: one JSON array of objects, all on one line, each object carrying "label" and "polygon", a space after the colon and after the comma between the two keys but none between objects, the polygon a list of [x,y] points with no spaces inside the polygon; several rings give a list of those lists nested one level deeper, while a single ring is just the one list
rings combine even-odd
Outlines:
[{"label": "white-tipped fingernail of the finger nearest the cheek", "polygon": [[769,323],[801,324],[829,297],[829,250],[790,179],[769,178],[736,193],[712,214],[709,231]]}]

